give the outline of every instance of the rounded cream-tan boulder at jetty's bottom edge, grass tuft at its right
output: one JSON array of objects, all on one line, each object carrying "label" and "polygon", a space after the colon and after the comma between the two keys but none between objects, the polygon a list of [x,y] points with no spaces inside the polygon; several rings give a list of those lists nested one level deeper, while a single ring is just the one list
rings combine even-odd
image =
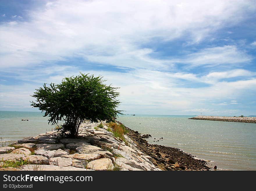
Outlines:
[{"label": "rounded cream-tan boulder at jetty's bottom edge, grass tuft at its right", "polygon": [[114,165],[109,158],[100,158],[88,163],[87,167],[93,170],[113,170]]}]

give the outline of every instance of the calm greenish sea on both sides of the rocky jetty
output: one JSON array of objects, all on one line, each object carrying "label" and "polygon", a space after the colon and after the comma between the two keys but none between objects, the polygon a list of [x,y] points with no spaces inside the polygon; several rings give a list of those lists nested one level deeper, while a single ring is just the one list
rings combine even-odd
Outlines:
[{"label": "calm greenish sea on both sides of the rocky jetty", "polygon": [[[41,112],[0,111],[0,144],[51,131],[55,126],[42,116]],[[194,116],[121,115],[117,120],[134,131],[151,134],[147,139],[151,144],[179,148],[218,169],[256,170],[256,124],[190,117]]]}]

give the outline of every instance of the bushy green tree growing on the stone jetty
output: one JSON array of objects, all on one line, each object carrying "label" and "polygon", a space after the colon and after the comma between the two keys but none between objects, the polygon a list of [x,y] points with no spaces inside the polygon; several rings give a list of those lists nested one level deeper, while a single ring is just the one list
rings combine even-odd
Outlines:
[{"label": "bushy green tree growing on the stone jetty", "polygon": [[106,120],[110,122],[121,110],[116,110],[120,101],[115,92],[118,88],[105,85],[102,76],[82,74],[64,78],[61,84],[46,83],[36,89],[32,97],[36,101],[31,106],[45,111],[49,116],[48,124],[57,124],[64,121],[61,131],[70,137],[78,136],[79,125],[86,119],[90,122]]}]

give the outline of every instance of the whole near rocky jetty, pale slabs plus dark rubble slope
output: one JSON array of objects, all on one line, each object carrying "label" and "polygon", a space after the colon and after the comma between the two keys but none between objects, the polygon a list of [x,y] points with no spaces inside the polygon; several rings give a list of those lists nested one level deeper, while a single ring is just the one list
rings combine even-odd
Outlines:
[{"label": "whole near rocky jetty, pale slabs plus dark rubble slope", "polygon": [[[117,122],[120,123],[120,122]],[[207,162],[172,147],[148,144],[141,134],[125,127],[118,139],[103,123],[85,122],[77,139],[57,130],[0,147],[0,170],[209,170]],[[121,123],[120,123],[121,124]],[[22,163],[18,167],[10,163]]]}]

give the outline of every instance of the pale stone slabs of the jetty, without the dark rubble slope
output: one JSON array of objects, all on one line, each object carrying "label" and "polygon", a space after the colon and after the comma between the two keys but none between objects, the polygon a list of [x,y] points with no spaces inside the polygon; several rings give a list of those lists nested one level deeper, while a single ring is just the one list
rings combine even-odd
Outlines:
[{"label": "pale stone slabs of the jetty, without the dark rubble slope", "polygon": [[[124,135],[125,141],[120,140],[103,124],[97,130],[99,123],[81,124],[76,139],[55,130],[0,147],[0,170],[161,170],[150,156],[136,148],[131,138]],[[3,168],[6,161],[17,160],[29,163]]]}]

